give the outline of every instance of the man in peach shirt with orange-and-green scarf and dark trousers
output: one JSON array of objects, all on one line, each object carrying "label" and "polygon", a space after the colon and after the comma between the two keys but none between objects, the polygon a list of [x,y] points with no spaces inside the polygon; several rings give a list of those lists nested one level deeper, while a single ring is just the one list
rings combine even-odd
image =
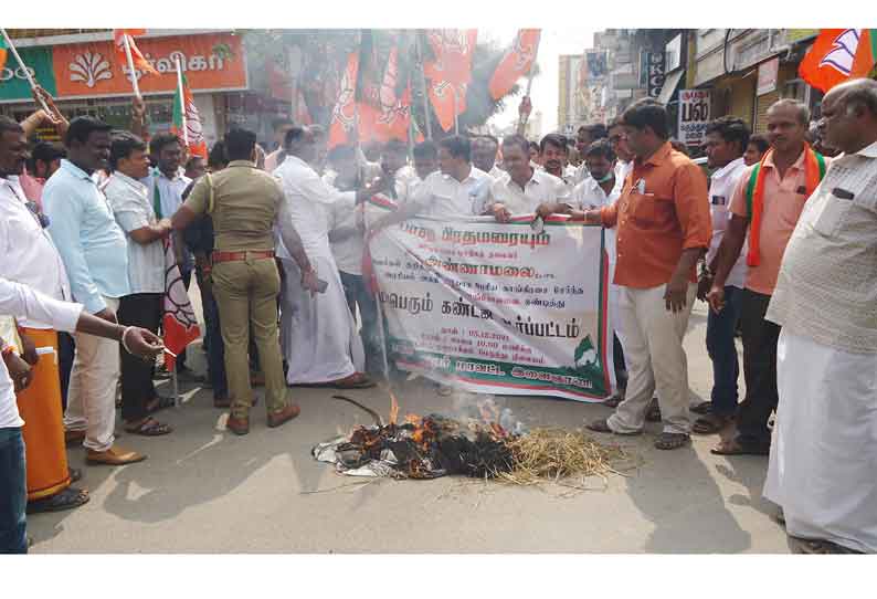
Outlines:
[{"label": "man in peach shirt with orange-and-green scarf and dark trousers", "polygon": [[[768,108],[771,149],[748,167],[731,199],[731,221],[718,251],[712,286],[707,295],[714,311],[725,307],[725,285],[749,230],[749,266],[740,307],[743,332],[746,399],[737,412],[737,438],[712,450],[718,455],[768,455],[768,419],[776,409],[776,341],[780,326],[764,319],[785,245],[804,203],[828,166],[804,140],[810,111],[794,99]],[[753,176],[753,170],[759,172]],[[752,227],[750,227],[752,223]]]}]

